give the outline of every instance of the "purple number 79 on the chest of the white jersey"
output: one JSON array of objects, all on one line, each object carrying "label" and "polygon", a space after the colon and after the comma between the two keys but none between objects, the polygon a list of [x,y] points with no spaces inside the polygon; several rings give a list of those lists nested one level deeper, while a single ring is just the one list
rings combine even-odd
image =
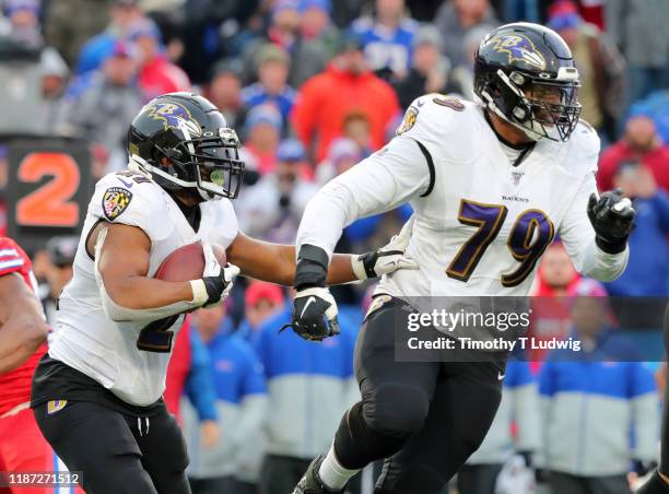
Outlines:
[{"label": "purple number 79 on the chest of the white jersey", "polygon": [[[500,234],[507,212],[505,205],[460,200],[458,221],[465,225],[477,226],[478,230],[460,247],[446,269],[449,278],[463,282],[469,280],[485,249]],[[520,266],[514,272],[503,274],[502,284],[517,286],[523,283],[535,269],[545,248],[553,242],[554,235],[555,227],[543,211],[537,209],[523,211],[516,219],[506,242],[512,256],[520,262]]]}]

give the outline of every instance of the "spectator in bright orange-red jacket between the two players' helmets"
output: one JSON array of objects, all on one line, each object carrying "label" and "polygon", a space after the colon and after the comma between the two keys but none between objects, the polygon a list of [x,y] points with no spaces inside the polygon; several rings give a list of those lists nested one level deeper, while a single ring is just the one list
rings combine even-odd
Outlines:
[{"label": "spectator in bright orange-red jacket between the two players' helmets", "polygon": [[317,162],[326,157],[330,142],[343,133],[344,118],[352,110],[367,116],[375,150],[384,144],[386,129],[400,111],[392,87],[367,69],[354,35],[341,42],[325,72],[304,83],[293,107],[295,132],[305,148],[315,149]]}]

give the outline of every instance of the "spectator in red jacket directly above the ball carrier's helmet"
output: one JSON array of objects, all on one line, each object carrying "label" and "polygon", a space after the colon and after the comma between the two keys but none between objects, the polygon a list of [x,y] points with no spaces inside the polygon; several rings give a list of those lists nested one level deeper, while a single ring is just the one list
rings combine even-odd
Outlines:
[{"label": "spectator in red jacket directly above the ball carrier's helmet", "polygon": [[186,72],[165,57],[161,33],[153,21],[139,23],[130,33],[130,39],[137,44],[141,54],[139,84],[146,99],[165,93],[190,90]]}]

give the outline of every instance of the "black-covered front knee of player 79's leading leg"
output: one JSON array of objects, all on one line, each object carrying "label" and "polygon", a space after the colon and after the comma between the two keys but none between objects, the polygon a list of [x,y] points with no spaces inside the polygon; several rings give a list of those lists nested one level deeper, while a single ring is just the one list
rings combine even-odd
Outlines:
[{"label": "black-covered front knee of player 79's leading leg", "polygon": [[367,400],[363,398],[363,417],[376,432],[397,438],[418,433],[430,411],[430,399],[419,388],[384,384]]}]

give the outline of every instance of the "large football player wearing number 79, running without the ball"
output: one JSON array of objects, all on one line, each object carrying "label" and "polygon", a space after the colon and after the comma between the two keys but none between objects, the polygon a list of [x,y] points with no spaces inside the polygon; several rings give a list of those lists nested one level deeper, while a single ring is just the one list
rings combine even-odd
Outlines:
[{"label": "large football player wearing number 79, running without the ball", "polygon": [[578,86],[556,33],[528,23],[498,27],[476,54],[476,103],[416,98],[383,150],[312,199],[297,234],[292,326],[300,336],[333,332],[326,275],[342,228],[356,219],[410,202],[407,255],[420,269],[382,279],[355,349],[362,401],[295,494],[342,492],[382,458],[376,493],[438,493],[485,436],[506,354],[396,361],[392,328],[414,310],[403,297],[525,296],[558,233],[584,275],[608,281],[624,270],[634,211],[618,191],[597,196],[599,139],[578,118]]}]

